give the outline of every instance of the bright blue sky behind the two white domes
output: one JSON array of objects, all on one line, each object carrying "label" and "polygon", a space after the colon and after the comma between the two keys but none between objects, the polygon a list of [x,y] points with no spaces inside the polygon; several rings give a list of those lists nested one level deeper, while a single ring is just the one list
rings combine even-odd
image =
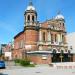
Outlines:
[{"label": "bright blue sky behind the two white domes", "polygon": [[[0,0],[0,44],[9,43],[24,28],[24,12],[29,0]],[[58,11],[65,17],[67,33],[75,32],[75,0],[33,0],[38,21],[55,17]]]}]

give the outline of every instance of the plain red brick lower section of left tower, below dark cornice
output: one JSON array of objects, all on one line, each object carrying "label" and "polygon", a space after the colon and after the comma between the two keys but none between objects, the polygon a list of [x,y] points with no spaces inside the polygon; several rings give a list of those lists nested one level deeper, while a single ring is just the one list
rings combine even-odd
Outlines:
[{"label": "plain red brick lower section of left tower, below dark cornice", "polygon": [[25,31],[25,45],[31,45],[31,50],[37,50],[38,32],[36,30]]}]

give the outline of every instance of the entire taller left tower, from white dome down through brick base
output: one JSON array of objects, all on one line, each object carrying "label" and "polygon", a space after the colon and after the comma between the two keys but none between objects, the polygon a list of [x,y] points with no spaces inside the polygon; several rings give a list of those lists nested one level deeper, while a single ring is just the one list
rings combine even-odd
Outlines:
[{"label": "entire taller left tower, from white dome down through brick base", "polygon": [[26,50],[37,50],[38,29],[37,29],[37,12],[30,0],[29,5],[24,13],[25,17],[25,47]]}]

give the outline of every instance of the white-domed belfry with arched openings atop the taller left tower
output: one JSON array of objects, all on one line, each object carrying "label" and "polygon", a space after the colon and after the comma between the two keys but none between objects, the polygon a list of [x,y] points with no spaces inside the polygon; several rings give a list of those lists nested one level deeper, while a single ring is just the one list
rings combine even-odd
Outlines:
[{"label": "white-domed belfry with arched openings atop the taller left tower", "polygon": [[24,13],[24,17],[25,17],[25,26],[36,26],[37,12],[31,0],[29,1],[29,5]]}]

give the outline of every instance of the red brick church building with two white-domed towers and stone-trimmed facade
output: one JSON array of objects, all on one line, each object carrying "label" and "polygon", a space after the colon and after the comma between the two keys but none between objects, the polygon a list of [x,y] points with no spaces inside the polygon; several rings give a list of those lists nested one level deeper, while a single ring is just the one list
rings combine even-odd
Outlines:
[{"label": "red brick church building with two white-domed towers and stone-trimmed facade", "polygon": [[24,13],[24,29],[14,37],[13,59],[28,58],[35,64],[73,61],[66,42],[65,18],[39,22],[37,11],[29,2]]}]

